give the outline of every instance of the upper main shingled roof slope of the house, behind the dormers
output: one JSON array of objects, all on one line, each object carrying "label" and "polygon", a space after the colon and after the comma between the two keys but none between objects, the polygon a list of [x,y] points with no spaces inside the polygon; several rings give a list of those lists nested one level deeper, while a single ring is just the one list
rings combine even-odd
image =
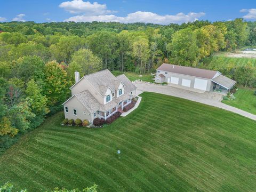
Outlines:
[{"label": "upper main shingled roof slope of the house, behind the dormers", "polygon": [[116,86],[118,87],[121,83],[119,82],[118,84],[118,79],[111,74],[108,69],[86,75],[84,78],[86,78],[102,96],[105,95],[108,87],[112,91],[116,91]]}]

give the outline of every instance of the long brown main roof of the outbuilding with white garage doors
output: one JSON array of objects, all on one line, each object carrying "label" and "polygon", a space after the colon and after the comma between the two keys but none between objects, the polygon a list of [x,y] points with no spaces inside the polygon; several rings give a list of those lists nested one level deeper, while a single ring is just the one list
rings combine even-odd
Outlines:
[{"label": "long brown main roof of the outbuilding with white garage doors", "polygon": [[206,79],[212,79],[218,71],[207,70],[207,69],[198,69],[194,67],[185,67],[178,65],[171,65],[167,63],[163,63],[156,70],[163,70],[171,73],[190,75],[194,77],[201,77]]}]

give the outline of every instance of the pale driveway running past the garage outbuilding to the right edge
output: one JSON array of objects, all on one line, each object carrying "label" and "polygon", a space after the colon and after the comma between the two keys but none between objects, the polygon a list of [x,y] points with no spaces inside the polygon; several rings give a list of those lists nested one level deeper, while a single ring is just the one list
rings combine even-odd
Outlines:
[{"label": "pale driveway running past the garage outbuilding to the right edge", "polygon": [[247,117],[256,121],[256,115],[253,115],[244,110],[222,103],[221,102],[222,95],[219,93],[214,93],[214,92],[198,93],[198,92],[193,92],[185,89],[179,89],[173,86],[161,86],[161,85],[149,84],[145,82],[135,82],[134,85],[137,86],[136,93],[138,95],[145,91],[171,95],[174,97],[188,99],[191,101],[201,102],[206,105],[219,107],[221,109],[232,111],[236,114],[242,115],[244,117]]}]

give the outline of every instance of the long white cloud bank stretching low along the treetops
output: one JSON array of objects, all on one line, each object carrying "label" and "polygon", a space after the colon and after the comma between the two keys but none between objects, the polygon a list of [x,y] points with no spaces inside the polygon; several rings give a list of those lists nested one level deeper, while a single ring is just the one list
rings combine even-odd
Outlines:
[{"label": "long white cloud bank stretching low along the treetops", "polygon": [[75,22],[92,22],[92,21],[102,21],[102,22],[122,22],[122,23],[133,23],[133,22],[145,22],[145,23],[156,23],[169,25],[169,23],[182,23],[195,21],[198,18],[204,16],[205,13],[193,13],[188,14],[178,13],[176,15],[158,15],[152,12],[142,12],[137,11],[135,13],[130,13],[126,17],[117,17],[114,14],[110,15],[77,15],[70,17],[65,21],[75,21]]}]

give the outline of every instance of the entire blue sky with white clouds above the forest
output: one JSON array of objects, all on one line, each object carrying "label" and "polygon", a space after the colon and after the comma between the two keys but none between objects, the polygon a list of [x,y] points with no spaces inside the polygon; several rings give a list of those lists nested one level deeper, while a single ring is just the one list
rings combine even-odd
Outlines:
[{"label": "entire blue sky with white clouds above the forest", "polygon": [[256,20],[255,0],[1,0],[0,21],[119,21],[168,24],[187,21]]}]

